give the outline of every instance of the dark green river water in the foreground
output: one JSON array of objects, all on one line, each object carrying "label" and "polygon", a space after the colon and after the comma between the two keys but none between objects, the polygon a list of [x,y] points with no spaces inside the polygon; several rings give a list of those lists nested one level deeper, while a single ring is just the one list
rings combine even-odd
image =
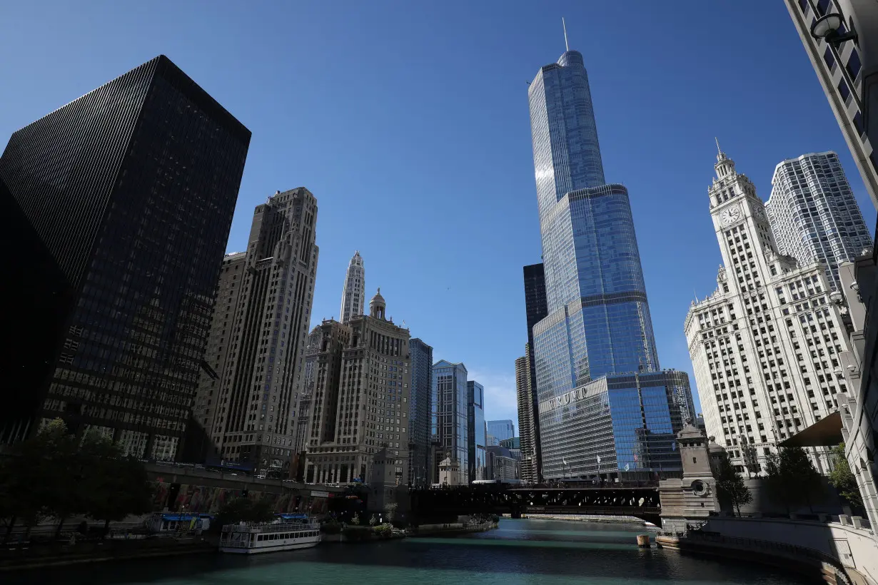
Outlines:
[{"label": "dark green river water in the foreground", "polygon": [[194,555],[4,574],[4,585],[801,585],[769,567],[637,548],[643,528],[501,519],[493,531],[454,538],[326,544],[289,553]]}]

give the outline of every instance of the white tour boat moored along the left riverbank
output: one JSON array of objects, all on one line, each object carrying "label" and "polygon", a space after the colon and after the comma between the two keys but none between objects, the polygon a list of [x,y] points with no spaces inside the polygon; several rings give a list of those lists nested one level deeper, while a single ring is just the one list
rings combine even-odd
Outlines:
[{"label": "white tour boat moored along the left riverbank", "polygon": [[274,522],[227,524],[219,537],[220,553],[276,553],[310,548],[320,542],[320,524],[305,514],[282,514]]}]

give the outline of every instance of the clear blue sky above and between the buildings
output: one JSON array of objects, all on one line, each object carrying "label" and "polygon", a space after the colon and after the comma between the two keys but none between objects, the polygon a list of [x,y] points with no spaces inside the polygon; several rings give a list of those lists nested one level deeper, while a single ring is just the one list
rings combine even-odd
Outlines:
[{"label": "clear blue sky above and between the buildings", "polygon": [[167,54],[253,132],[228,250],[244,248],[256,204],[306,186],[313,323],[338,317],[358,249],[367,296],[380,286],[436,360],[466,364],[486,419],[517,423],[522,266],[540,260],[526,82],[564,51],[562,16],[607,180],[630,191],[659,360],[691,376],[683,319],[720,263],[715,136],[763,198],[778,162],[835,150],[874,225],[781,0],[8,1],[0,140]]}]

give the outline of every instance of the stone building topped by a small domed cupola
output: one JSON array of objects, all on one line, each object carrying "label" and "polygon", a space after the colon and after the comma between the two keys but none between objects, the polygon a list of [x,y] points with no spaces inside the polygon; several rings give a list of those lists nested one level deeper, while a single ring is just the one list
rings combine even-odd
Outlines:
[{"label": "stone building topped by a small domed cupola", "polygon": [[306,482],[405,485],[412,383],[408,330],[387,319],[379,289],[369,315],[351,317],[346,325],[324,321],[320,335]]}]

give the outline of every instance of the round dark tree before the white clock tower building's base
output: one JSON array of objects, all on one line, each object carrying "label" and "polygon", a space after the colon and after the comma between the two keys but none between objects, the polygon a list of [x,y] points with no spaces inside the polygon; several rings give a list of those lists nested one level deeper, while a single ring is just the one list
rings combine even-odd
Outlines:
[{"label": "round dark tree before the white clock tower building's base", "polygon": [[766,457],[766,487],[776,503],[789,512],[821,495],[820,474],[802,447],[780,447]]}]

